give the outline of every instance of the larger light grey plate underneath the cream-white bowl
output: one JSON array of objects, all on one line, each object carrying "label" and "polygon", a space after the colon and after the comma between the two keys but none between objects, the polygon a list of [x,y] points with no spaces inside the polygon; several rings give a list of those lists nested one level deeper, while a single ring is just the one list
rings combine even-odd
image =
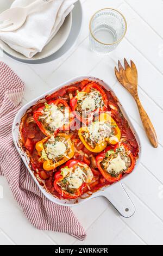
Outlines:
[{"label": "larger light grey plate underneath the cream-white bowl", "polygon": [[[0,2],[1,2],[1,0],[0,0]],[[63,56],[64,54],[66,54],[76,44],[76,41],[79,37],[80,31],[82,28],[82,23],[83,23],[83,9],[82,9],[82,4],[79,0],[78,2],[76,2],[74,4],[74,9],[72,11],[72,28],[71,28],[70,35],[68,36],[68,39],[65,42],[65,44],[57,52],[53,53],[51,56],[49,56],[47,58],[43,58],[40,60],[18,59],[18,58],[11,56],[7,52],[5,52],[5,51],[4,52],[11,58],[13,58],[19,62],[23,62],[23,63],[42,64],[42,63],[52,62],[53,60],[58,59],[61,56]]]}]

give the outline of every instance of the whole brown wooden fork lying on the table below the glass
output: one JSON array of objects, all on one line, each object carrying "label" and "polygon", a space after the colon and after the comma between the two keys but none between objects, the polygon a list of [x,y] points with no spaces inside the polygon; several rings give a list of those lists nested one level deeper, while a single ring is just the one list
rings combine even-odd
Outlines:
[{"label": "whole brown wooden fork lying on the table below the glass", "polygon": [[137,69],[134,62],[131,60],[131,66],[128,64],[127,60],[124,58],[123,68],[120,60],[118,60],[119,71],[115,67],[115,74],[118,81],[122,84],[124,88],[134,97],[137,107],[139,108],[140,117],[145,128],[147,137],[154,148],[158,147],[158,139],[154,127],[149,119],[145,109],[142,107],[138,92],[137,92]]}]

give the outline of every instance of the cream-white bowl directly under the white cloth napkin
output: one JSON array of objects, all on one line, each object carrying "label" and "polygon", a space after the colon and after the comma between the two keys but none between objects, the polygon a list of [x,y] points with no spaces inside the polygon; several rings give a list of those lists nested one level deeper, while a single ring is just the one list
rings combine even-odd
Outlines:
[{"label": "cream-white bowl directly under the white cloth napkin", "polygon": [[[14,0],[1,0],[0,2],[0,13],[2,11],[8,9]],[[51,56],[53,53],[57,52],[66,42],[72,27],[72,13],[70,13],[64,24],[59,29],[58,33],[54,36],[54,38],[43,48],[42,52],[37,53],[33,58],[30,59],[31,62],[34,60],[40,60]],[[0,46],[4,52],[8,53],[12,57],[18,58],[20,60],[28,60],[27,57],[23,56],[21,53],[14,51],[10,48],[5,42],[0,40]]]}]

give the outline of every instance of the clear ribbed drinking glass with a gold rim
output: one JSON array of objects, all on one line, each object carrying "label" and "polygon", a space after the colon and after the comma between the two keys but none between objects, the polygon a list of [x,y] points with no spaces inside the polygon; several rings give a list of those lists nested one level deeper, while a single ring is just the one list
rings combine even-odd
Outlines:
[{"label": "clear ribbed drinking glass with a gold rim", "polygon": [[102,9],[90,21],[90,48],[99,54],[109,54],[124,38],[127,22],[115,9]]}]

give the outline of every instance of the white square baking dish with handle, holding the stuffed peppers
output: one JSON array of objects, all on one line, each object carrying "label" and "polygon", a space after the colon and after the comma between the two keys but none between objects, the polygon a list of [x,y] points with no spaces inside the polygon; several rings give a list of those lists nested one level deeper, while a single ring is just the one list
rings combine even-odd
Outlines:
[{"label": "white square baking dish with handle, holding the stuffed peppers", "polygon": [[[17,148],[18,153],[21,155],[24,164],[26,164],[26,167],[29,170],[29,173],[32,175],[33,179],[35,180],[37,186],[40,188],[41,192],[45,195],[45,197],[47,197],[52,202],[57,203],[59,205],[76,206],[76,205],[79,205],[79,204],[82,204],[82,203],[86,202],[87,200],[91,200],[92,198],[103,196],[103,197],[108,198],[110,203],[115,206],[115,208],[118,210],[118,212],[120,212],[120,214],[122,216],[130,217],[130,216],[132,216],[134,214],[135,207],[134,207],[133,203],[131,202],[130,198],[128,197],[128,194],[124,190],[121,182],[117,182],[116,184],[113,184],[113,185],[111,185],[109,187],[105,187],[101,191],[97,191],[96,193],[93,193],[92,196],[90,196],[89,198],[86,198],[86,199],[79,198],[78,202],[77,202],[77,200],[64,200],[64,199],[60,200],[60,199],[57,199],[57,198],[53,197],[51,194],[49,194],[39,184],[39,182],[35,178],[35,175],[33,174],[32,170],[29,168],[28,156],[26,155],[26,153],[24,153],[24,150],[21,149],[19,128],[20,128],[21,118],[26,113],[27,109],[30,108],[31,106],[35,105],[35,103],[37,101],[39,101],[40,99],[42,99],[46,95],[52,94],[52,93],[56,92],[57,90],[59,90],[60,88],[62,88],[64,86],[68,86],[69,84],[72,84],[72,83],[80,81],[80,80],[88,79],[88,78],[90,80],[99,82],[106,89],[111,90],[111,88],[108,86],[107,83],[99,80],[98,78],[94,78],[94,77],[90,77],[90,76],[80,76],[80,77],[73,78],[72,80],[67,81],[67,82],[61,84],[60,86],[58,86],[58,87],[56,87],[56,88],[54,88],[52,90],[49,90],[49,92],[41,95],[40,97],[37,97],[35,100],[33,100],[33,101],[27,103],[27,105],[23,106],[20,109],[20,111],[18,111],[18,113],[17,113],[17,115],[16,115],[16,117],[14,119],[14,123],[12,125],[12,136],[13,136],[13,140],[14,140],[14,143],[15,143],[15,147]],[[137,142],[139,143],[140,157],[141,157],[141,144],[140,144],[139,136],[137,135],[133,125],[131,124],[131,121],[130,121],[128,115],[126,114],[126,112],[124,111],[122,106],[121,106],[121,111],[122,111],[124,117],[128,120],[128,122],[130,124],[130,127],[131,127],[131,130],[133,130],[134,135],[135,135],[135,137],[137,139]],[[139,165],[140,157],[139,157],[139,160],[136,163],[134,171],[136,170],[137,166]],[[126,175],[123,176],[123,179],[125,179],[125,178],[126,178]]]}]

